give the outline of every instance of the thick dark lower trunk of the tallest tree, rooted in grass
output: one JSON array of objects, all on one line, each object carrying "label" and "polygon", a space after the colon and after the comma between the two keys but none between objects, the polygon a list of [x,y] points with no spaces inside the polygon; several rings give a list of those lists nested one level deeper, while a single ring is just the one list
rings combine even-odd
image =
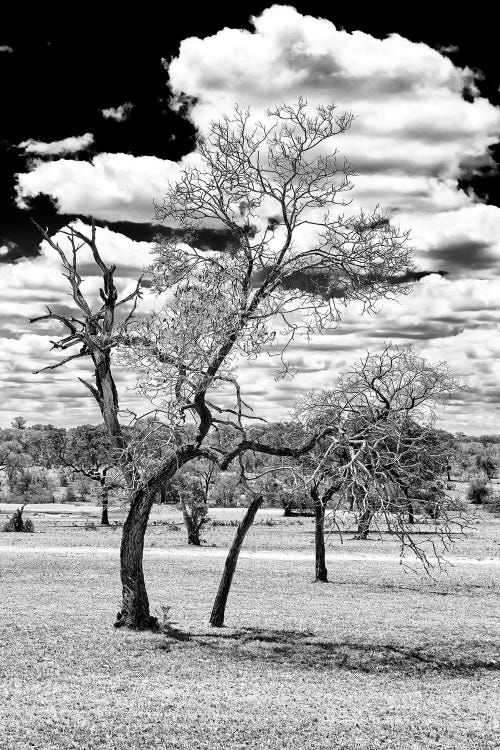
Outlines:
[{"label": "thick dark lower trunk of the tallest tree, rooted in grass", "polygon": [[152,493],[138,490],[123,526],[120,547],[120,572],[123,603],[115,627],[134,630],[157,630],[158,620],[149,613],[142,558],[144,535],[152,506]]}]

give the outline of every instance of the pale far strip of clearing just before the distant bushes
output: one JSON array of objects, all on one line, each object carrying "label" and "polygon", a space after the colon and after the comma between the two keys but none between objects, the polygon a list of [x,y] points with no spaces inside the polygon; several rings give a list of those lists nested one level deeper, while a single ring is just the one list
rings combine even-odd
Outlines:
[{"label": "pale far strip of clearing just before the distant bushes", "polygon": [[[0,525],[7,520],[17,506],[0,506]],[[450,550],[450,555],[478,559],[500,556],[500,518],[495,518],[486,511],[474,508],[476,520],[469,536],[458,538]],[[214,548],[227,549],[231,544],[235,529],[231,522],[241,520],[243,508],[211,508],[210,517],[216,523],[227,525],[209,525],[204,534],[204,544]],[[25,516],[33,519],[36,533],[22,537],[2,534],[0,545],[17,545],[39,547],[116,547],[120,545],[120,524],[125,513],[123,509],[113,509],[110,528],[99,526],[100,508],[94,505],[59,505],[27,506]],[[484,519],[483,522],[481,519]],[[95,528],[92,528],[92,524]],[[87,528],[86,528],[87,527]],[[328,523],[327,523],[328,528]],[[172,506],[154,506],[151,522],[145,540],[146,548],[179,549],[186,546],[186,531],[179,510]],[[328,552],[342,554],[387,554],[397,555],[399,543],[394,536],[378,534],[374,531],[367,540],[354,540],[353,533],[342,537],[332,529],[327,535]],[[245,540],[245,549],[255,550],[288,550],[310,552],[314,549],[314,520],[312,518],[284,518],[278,508],[265,508],[259,511],[256,523]]]}]

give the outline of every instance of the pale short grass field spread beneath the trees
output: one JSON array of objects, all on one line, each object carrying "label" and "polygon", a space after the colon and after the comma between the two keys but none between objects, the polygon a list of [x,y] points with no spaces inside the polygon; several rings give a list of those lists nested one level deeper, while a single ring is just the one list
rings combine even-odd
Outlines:
[{"label": "pale short grass field spread beneath the trees", "polygon": [[[312,521],[264,511],[246,548],[290,559],[243,557],[228,627],[214,631],[215,554],[234,528],[211,527],[215,546],[171,556],[184,530],[175,511],[157,508],[148,588],[177,630],[137,634],[112,627],[119,529],[85,530],[96,508],[29,510],[37,533],[0,535],[2,750],[500,746],[498,565],[460,564],[430,581],[390,559],[332,557],[331,583],[314,584]],[[453,554],[498,558],[499,542],[490,517]],[[397,548],[392,539],[340,548],[331,536],[335,551]]]}]

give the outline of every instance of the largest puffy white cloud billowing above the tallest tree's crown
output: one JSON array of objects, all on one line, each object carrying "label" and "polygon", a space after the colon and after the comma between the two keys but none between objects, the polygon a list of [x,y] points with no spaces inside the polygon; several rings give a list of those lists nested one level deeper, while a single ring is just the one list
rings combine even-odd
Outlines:
[{"label": "largest puffy white cloud billowing above the tallest tree's crown", "polygon": [[300,95],[311,106],[333,100],[355,115],[336,145],[361,175],[361,204],[378,196],[383,207],[421,211],[469,201],[457,189],[462,163],[487,158],[500,134],[500,110],[478,96],[471,70],[426,44],[343,31],[289,6],[251,22],[253,32],[185,39],[171,62],[171,88],[194,98],[198,127],[236,102],[258,115]]}]

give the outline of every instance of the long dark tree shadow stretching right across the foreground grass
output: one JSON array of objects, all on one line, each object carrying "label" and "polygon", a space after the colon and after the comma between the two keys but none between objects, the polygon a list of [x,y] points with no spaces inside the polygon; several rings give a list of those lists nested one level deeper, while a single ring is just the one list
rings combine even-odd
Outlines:
[{"label": "long dark tree shadow stretching right across the foreground grass", "polygon": [[345,669],[363,673],[471,675],[480,670],[500,671],[500,654],[490,641],[414,647],[396,643],[328,641],[312,631],[243,628],[166,634],[165,648],[173,641],[189,641],[191,647],[216,652],[224,658],[276,662],[282,665],[324,669]]}]

